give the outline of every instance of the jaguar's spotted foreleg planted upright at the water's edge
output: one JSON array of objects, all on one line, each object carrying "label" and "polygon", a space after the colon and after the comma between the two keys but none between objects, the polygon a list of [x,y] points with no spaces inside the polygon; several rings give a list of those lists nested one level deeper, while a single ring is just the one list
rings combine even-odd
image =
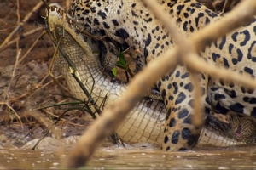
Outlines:
[{"label": "jaguar's spotted foreleg planted upright at the water's edge", "polygon": [[[171,75],[162,77],[158,83],[167,110],[162,144],[162,150],[166,151],[192,149],[201,133],[201,127],[195,127],[192,122],[195,90],[189,80],[189,72],[183,70],[183,67],[178,67]],[[174,78],[180,78],[182,81],[175,82]],[[203,78],[200,80],[201,99],[205,100],[207,83]]]}]

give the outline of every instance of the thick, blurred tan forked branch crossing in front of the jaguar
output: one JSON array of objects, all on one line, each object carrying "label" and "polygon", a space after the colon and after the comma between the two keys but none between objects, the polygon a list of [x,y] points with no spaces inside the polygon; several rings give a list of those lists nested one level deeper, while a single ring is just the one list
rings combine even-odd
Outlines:
[{"label": "thick, blurred tan forked branch crossing in front of the jaguar", "polygon": [[[144,1],[146,3],[146,1]],[[151,1],[152,3],[154,1]],[[148,4],[148,1],[147,1]],[[149,6],[149,5],[148,5]],[[154,8],[159,10],[157,5]],[[244,26],[249,24],[253,19],[253,15],[256,14],[256,1],[247,0],[241,3],[237,8],[235,8],[230,14],[227,14],[223,20],[219,20],[216,23],[212,23],[206,26],[200,32],[196,33],[193,37],[189,38],[188,41],[194,42],[192,49],[195,52],[199,52],[202,48],[205,48],[207,44],[218,39],[218,37],[223,37],[229,31],[234,30],[238,26]],[[169,16],[165,14],[163,16]],[[159,17],[160,19],[160,17]],[[168,20],[170,21],[169,17]],[[189,42],[188,42],[189,43]],[[184,44],[184,42],[183,42]],[[101,144],[102,140],[108,135],[113,133],[113,130],[118,127],[119,122],[125,118],[125,115],[133,108],[134,105],[143,97],[148,88],[150,88],[154,82],[159,80],[160,77],[166,74],[166,72],[172,71],[177,65],[177,54],[181,54],[184,48],[176,47],[172,50],[166,51],[161,57],[155,59],[147,67],[131,81],[128,85],[125,94],[117,101],[114,105],[111,105],[108,109],[103,111],[102,117],[99,117],[96,122],[92,124],[91,127],[87,129],[82,138],[79,140],[78,144],[71,151],[67,159],[67,167],[80,167],[84,165],[84,162],[89,161],[90,156],[96,150],[97,146]],[[247,82],[243,79],[236,79],[238,74],[230,71],[224,70],[220,72],[221,69],[215,65],[209,67],[208,64],[197,63],[201,61],[193,53],[187,54],[187,58],[183,58],[183,62],[192,69],[193,71],[207,71],[216,77],[221,77],[223,74],[228,74],[230,78],[235,82],[239,81],[241,84],[247,87],[256,88],[256,81],[252,78],[247,79]],[[195,66],[195,64],[197,64]],[[203,69],[202,69],[203,68]],[[201,69],[201,70],[200,70]],[[207,70],[206,70],[207,69]],[[225,77],[226,78],[226,77]]]}]

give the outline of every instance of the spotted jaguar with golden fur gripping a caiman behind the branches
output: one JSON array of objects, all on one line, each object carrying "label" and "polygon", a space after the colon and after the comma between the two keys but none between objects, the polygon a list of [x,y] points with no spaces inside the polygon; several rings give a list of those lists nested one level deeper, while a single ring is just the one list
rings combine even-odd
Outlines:
[{"label": "spotted jaguar with golden fur gripping a caiman behind the branches", "polygon": [[[212,12],[195,0],[158,0],[176,20],[180,33],[190,36],[208,23],[219,20]],[[106,70],[111,70],[119,53],[116,46],[134,55],[138,71],[149,62],[172,48],[174,42],[165,27],[154,17],[146,5],[137,0],[74,0],[72,17],[84,30],[102,37],[99,42],[101,59]],[[255,20],[225,37],[213,42],[199,55],[207,62],[224,66],[231,71],[255,77],[256,45]],[[256,91],[234,82],[200,75],[201,99],[206,117],[213,113],[256,116]],[[189,71],[180,64],[175,70],[156,82],[166,106],[166,120],[162,150],[189,150],[197,144],[201,128],[191,121],[194,87]]]}]

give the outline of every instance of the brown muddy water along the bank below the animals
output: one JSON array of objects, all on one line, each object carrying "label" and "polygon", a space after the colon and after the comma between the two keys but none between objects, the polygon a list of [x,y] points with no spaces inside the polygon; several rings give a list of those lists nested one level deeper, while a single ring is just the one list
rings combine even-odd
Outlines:
[{"label": "brown muddy water along the bank below the animals", "polygon": [[[33,143],[34,144],[34,143]],[[32,143],[17,149],[0,146],[0,167],[6,169],[58,169],[73,146],[72,142],[49,139],[38,150],[29,150]],[[188,152],[161,152],[150,144],[103,144],[92,156],[89,168],[182,168],[182,169],[256,169],[256,146],[207,147]]]}]

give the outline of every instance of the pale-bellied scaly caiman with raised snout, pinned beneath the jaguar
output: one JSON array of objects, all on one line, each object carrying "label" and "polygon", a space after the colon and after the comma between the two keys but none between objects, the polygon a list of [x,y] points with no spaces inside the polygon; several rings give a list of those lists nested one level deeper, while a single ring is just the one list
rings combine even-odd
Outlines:
[{"label": "pale-bellied scaly caiman with raised snout, pinned beneath the jaguar", "polygon": [[[66,16],[66,18],[63,16]],[[63,20],[64,19],[64,20]],[[55,39],[60,40],[60,46],[64,52],[76,65],[79,72],[81,82],[88,91],[94,86],[91,96],[93,99],[98,99],[100,104],[105,95],[108,94],[107,107],[121,96],[125,91],[125,85],[119,82],[112,82],[111,77],[102,71],[102,66],[98,54],[96,53],[96,42],[91,41],[89,37],[81,35],[76,30],[73,20],[68,14],[63,12],[63,9],[56,3],[49,5],[48,12],[49,30],[53,32]],[[65,32],[63,31],[65,28]],[[64,36],[61,37],[63,35]],[[85,42],[84,42],[85,41]],[[90,44],[90,46],[88,45]],[[87,99],[79,84],[72,77],[69,71],[67,61],[59,54],[55,61],[55,66],[61,72],[62,76],[66,78],[68,87],[72,94],[77,99]],[[165,120],[166,108],[159,100],[143,99],[132,111],[126,116],[125,121],[121,123],[117,133],[119,137],[125,142],[150,142],[154,144],[161,144],[164,139],[163,124]],[[239,117],[236,119],[239,125]],[[199,144],[213,144],[218,146],[225,146],[231,144],[244,144],[241,140],[238,142],[236,137],[232,136],[235,130],[230,127],[222,127],[224,124],[219,122],[216,118],[208,117],[207,128],[201,132]],[[219,129],[222,127],[223,129]],[[224,129],[230,128],[230,130]],[[234,127],[235,129],[237,128]],[[225,137],[216,134],[223,134]],[[221,132],[224,130],[225,132]],[[251,134],[251,133],[249,133]],[[242,135],[241,135],[242,136]]]}]

